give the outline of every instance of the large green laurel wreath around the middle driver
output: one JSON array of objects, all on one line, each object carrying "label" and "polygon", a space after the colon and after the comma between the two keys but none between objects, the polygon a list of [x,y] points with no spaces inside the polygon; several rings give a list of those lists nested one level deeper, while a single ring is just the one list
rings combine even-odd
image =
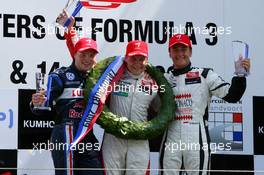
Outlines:
[{"label": "large green laurel wreath around the middle driver", "polygon": [[[89,87],[85,94],[86,97],[91,88],[114,59],[115,57],[103,59],[98,62],[90,72],[89,78],[86,80],[86,87]],[[159,91],[161,106],[157,116],[150,121],[130,121],[126,117],[113,114],[109,108],[104,105],[104,109],[96,123],[107,133],[124,139],[151,139],[161,135],[167,128],[168,123],[173,120],[176,105],[169,83],[163,74],[154,66],[148,64],[146,71],[151,78],[157,82],[159,87],[163,85],[163,88],[165,89],[163,92]]]}]

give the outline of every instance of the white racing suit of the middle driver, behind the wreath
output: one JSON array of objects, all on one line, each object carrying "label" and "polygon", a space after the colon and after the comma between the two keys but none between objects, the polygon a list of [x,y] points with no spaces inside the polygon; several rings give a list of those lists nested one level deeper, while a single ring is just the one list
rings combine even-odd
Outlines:
[{"label": "white racing suit of the middle driver, behind the wreath", "polygon": [[[111,93],[110,110],[132,121],[146,121],[147,110],[157,91],[156,82],[146,73],[133,76],[125,71]],[[143,175],[148,171],[148,140],[127,140],[105,133],[102,153],[107,175]]]}]

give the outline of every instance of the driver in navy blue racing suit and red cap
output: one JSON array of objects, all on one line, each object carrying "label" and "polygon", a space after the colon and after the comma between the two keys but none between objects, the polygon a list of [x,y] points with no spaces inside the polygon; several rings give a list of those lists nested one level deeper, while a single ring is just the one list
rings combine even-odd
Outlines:
[{"label": "driver in navy blue racing suit and red cap", "polygon": [[[71,38],[67,38],[68,41]],[[84,93],[87,72],[95,65],[98,53],[96,42],[90,38],[76,40],[70,52],[73,58],[69,67],[62,67],[49,75],[47,91],[32,95],[32,108],[48,103],[57,112],[56,125],[52,130],[54,144],[52,158],[56,175],[103,175],[103,171],[89,170],[102,168],[99,159],[99,143],[93,132],[76,145],[76,150],[68,151],[76,135],[84,112]],[[55,106],[53,104],[56,104]],[[41,111],[34,111],[36,114]],[[55,146],[56,145],[56,146]],[[86,168],[86,170],[73,170]],[[63,169],[63,170],[62,170]]]}]

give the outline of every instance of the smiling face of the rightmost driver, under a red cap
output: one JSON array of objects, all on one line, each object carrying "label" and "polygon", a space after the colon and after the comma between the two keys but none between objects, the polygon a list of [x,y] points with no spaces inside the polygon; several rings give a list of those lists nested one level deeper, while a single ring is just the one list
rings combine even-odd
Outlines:
[{"label": "smiling face of the rightmost driver, under a red cap", "polygon": [[183,44],[175,44],[169,49],[170,57],[175,69],[182,69],[190,63],[192,49]]}]

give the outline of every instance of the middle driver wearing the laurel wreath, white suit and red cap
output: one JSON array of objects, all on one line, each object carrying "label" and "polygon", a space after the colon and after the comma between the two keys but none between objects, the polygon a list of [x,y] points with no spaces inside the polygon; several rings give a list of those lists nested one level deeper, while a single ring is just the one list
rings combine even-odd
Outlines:
[{"label": "middle driver wearing the laurel wreath, white suit and red cap", "polygon": [[[63,19],[65,15],[61,16]],[[65,19],[62,20],[64,21]],[[65,38],[73,55],[73,46],[78,39],[74,30],[71,27],[69,29]],[[79,42],[80,40],[75,44],[75,48]],[[110,95],[110,110],[118,116],[127,117],[128,120],[146,121],[147,110],[157,96],[156,82],[145,72],[148,62],[147,43],[140,40],[130,41],[124,62],[126,70]],[[107,175],[142,175],[148,172],[148,140],[127,140],[105,133],[102,153]]]}]

